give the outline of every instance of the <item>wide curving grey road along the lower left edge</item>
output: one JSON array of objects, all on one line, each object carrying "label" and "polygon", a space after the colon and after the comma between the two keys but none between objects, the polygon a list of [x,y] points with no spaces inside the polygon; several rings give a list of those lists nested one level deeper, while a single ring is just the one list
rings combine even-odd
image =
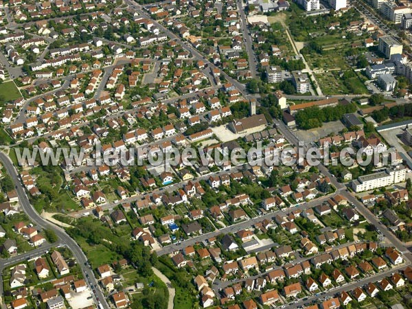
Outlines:
[{"label": "wide curving grey road along the lower left edge", "polygon": [[102,293],[102,290],[100,290],[98,280],[95,278],[92,269],[87,266],[87,257],[86,255],[84,255],[80,246],[69,235],[67,235],[64,229],[57,227],[51,222],[48,222],[37,213],[36,209],[34,209],[34,207],[30,204],[29,198],[27,197],[27,194],[23,186],[21,185],[19,174],[14,168],[14,165],[8,155],[0,152],[0,161],[1,163],[3,163],[3,166],[5,167],[8,175],[10,175],[10,177],[12,178],[14,185],[16,185],[16,192],[19,196],[19,203],[25,214],[27,214],[30,220],[32,220],[32,222],[34,222],[38,227],[41,227],[42,229],[52,229],[56,233],[60,244],[67,246],[73,253],[74,258],[76,258],[79,266],[82,268],[84,280],[87,282],[88,286],[91,288],[91,290],[95,291],[93,293],[93,297],[96,301],[96,304],[98,303],[98,301],[100,301],[104,308],[110,308],[110,306],[108,306],[106,298],[104,297],[104,294]]}]

